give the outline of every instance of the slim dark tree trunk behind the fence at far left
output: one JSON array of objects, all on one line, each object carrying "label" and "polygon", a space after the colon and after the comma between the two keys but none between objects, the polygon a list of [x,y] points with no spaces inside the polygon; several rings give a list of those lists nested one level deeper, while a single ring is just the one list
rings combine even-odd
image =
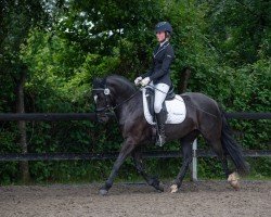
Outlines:
[{"label": "slim dark tree trunk behind the fence at far left", "polygon": [[[20,79],[17,80],[17,103],[16,103],[16,112],[17,113],[25,113],[25,102],[24,102],[24,86],[26,80],[26,68],[23,68],[20,75]],[[22,153],[27,153],[27,142],[26,142],[26,122],[20,120],[18,122],[18,131],[20,131],[20,145]],[[29,166],[28,162],[20,162],[20,171],[22,176],[22,181],[24,183],[29,182],[30,175],[29,175]]]}]

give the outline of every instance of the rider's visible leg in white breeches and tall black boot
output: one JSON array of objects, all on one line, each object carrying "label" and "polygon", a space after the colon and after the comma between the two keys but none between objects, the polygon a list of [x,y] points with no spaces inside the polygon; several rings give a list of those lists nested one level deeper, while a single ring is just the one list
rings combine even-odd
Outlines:
[{"label": "rider's visible leg in white breeches and tall black boot", "polygon": [[157,140],[158,145],[163,145],[165,143],[165,122],[167,118],[167,114],[162,110],[162,104],[167,97],[167,92],[169,91],[169,86],[166,84],[157,84],[155,86],[155,97],[154,97],[154,112],[156,116],[156,124],[158,127],[159,136]]}]

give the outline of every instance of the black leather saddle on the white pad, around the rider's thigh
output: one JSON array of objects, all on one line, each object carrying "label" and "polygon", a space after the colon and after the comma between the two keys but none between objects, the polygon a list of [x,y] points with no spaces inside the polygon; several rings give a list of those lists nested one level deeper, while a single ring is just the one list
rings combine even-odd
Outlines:
[{"label": "black leather saddle on the white pad, around the rider's thigh", "polygon": [[[154,116],[155,116],[155,113],[154,113],[154,89],[146,87],[145,95],[146,95],[146,102],[147,102],[147,107],[149,107],[150,114],[154,118]],[[166,97],[165,101],[162,104],[162,110],[164,110],[166,112],[166,114],[168,114],[167,106],[166,106],[166,101],[173,100],[175,97],[176,97],[175,88],[171,85],[170,88],[169,88],[169,91],[167,92],[167,97]]]}]

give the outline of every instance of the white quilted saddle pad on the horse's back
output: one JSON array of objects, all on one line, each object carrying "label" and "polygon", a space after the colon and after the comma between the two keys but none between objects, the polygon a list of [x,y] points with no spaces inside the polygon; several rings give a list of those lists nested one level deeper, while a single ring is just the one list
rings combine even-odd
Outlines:
[{"label": "white quilted saddle pad on the horse's back", "polygon": [[[143,110],[144,110],[144,116],[146,122],[150,125],[155,125],[153,122],[153,116],[151,115],[149,107],[147,107],[147,101],[146,101],[146,89],[142,89],[142,98],[143,98]],[[166,124],[180,124],[185,119],[186,116],[186,108],[183,99],[181,95],[176,94],[173,100],[169,100],[165,102],[168,116]]]}]

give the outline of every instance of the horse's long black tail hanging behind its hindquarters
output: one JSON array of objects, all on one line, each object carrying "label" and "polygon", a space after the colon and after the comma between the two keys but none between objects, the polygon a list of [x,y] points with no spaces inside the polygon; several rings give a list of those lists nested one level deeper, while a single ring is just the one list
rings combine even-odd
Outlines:
[{"label": "horse's long black tail hanging behind its hindquarters", "polygon": [[247,175],[249,173],[249,166],[243,156],[243,152],[234,140],[232,130],[227,123],[225,114],[222,110],[221,118],[222,118],[222,132],[221,132],[221,142],[223,150],[231,156],[233,163],[235,164],[237,171],[241,175]]}]

